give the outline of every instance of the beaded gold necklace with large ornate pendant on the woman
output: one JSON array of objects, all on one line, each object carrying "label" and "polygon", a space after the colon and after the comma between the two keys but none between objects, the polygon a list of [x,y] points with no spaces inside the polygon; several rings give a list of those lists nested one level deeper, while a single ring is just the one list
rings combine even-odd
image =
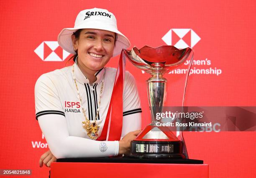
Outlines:
[{"label": "beaded gold necklace with large ornate pendant on the woman", "polygon": [[[78,97],[79,97],[79,100],[80,100],[80,103],[81,103],[82,112],[83,112],[84,118],[85,118],[85,120],[82,122],[82,126],[87,131],[87,135],[92,140],[96,140],[97,137],[98,137],[98,130],[100,128],[100,126],[98,126],[97,123],[96,123],[96,119],[99,116],[100,100],[99,100],[99,107],[97,108],[97,113],[96,113],[96,116],[95,116],[95,121],[93,123],[90,123],[90,120],[87,118],[87,116],[85,114],[85,110],[84,110],[84,107],[82,105],[82,98],[80,96],[80,93],[79,93],[79,90],[78,90],[78,87],[77,87],[77,80],[76,80],[75,75],[74,75],[74,65],[73,65],[72,72],[73,72],[74,83],[75,83],[76,88],[77,88],[77,94],[78,94]],[[102,83],[101,83],[101,87],[100,87],[100,99],[102,97],[102,91],[103,91],[103,85],[104,85],[104,77],[105,77],[105,70],[104,70],[103,79],[102,79]]]}]

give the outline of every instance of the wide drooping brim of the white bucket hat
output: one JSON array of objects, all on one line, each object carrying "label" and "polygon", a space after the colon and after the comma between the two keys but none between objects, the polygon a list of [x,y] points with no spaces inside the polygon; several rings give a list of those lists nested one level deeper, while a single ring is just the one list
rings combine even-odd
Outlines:
[{"label": "wide drooping brim of the white bucket hat", "polygon": [[85,28],[92,28],[92,29],[99,29],[99,30],[108,30],[110,32],[114,32],[118,35],[117,41],[115,42],[115,48],[113,51],[113,57],[116,55],[119,55],[122,51],[122,49],[127,49],[130,47],[131,43],[128,40],[128,38],[125,37],[120,31],[116,29],[116,27],[112,27],[113,25],[109,24],[107,27],[102,27],[102,24],[87,24],[87,25],[81,25],[77,28],[64,28],[61,30],[61,32],[58,35],[58,43],[69,53],[75,54],[73,42],[72,42],[72,34],[79,30],[79,29],[85,29]]}]

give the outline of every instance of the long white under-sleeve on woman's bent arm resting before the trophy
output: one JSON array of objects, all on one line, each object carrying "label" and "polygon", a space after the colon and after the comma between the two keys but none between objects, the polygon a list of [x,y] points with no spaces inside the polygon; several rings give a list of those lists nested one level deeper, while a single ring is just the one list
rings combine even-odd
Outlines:
[{"label": "long white under-sleeve on woman's bent arm resting before the trophy", "polygon": [[56,158],[105,157],[118,155],[118,141],[96,141],[69,136],[66,118],[48,114],[38,117],[38,122],[51,153]]}]

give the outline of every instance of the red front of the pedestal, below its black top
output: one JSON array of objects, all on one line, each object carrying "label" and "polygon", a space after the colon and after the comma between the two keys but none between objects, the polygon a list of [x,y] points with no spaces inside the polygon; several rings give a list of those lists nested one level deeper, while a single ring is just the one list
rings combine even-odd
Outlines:
[{"label": "red front of the pedestal, below its black top", "polygon": [[207,164],[51,163],[51,178],[208,178]]}]

